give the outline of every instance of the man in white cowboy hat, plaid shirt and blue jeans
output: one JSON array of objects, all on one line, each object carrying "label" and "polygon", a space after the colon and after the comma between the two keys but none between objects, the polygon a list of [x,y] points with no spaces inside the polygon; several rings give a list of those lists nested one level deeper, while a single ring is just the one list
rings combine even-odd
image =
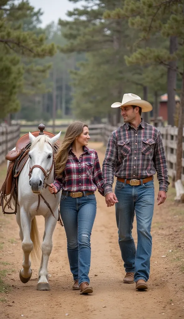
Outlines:
[{"label": "man in white cowboy hat, plaid shirt and blue jeans", "polygon": [[[126,276],[124,283],[136,282],[136,289],[147,289],[152,251],[151,223],[154,208],[153,175],[159,180],[158,205],[168,189],[168,169],[159,130],[141,118],[152,105],[135,94],[124,94],[120,107],[124,124],[110,135],[103,161],[104,196],[107,206],[116,206],[119,246]],[[117,177],[115,193],[112,191]],[[134,212],[137,220],[137,251],[131,235]]]}]

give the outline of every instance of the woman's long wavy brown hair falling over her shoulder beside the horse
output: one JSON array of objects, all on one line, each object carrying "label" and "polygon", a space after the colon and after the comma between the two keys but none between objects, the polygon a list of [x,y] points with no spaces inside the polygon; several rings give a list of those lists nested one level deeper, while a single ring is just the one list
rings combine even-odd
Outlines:
[{"label": "woman's long wavy brown hair falling over her shoulder beside the horse", "polygon": [[80,121],[70,124],[65,133],[63,142],[55,157],[55,172],[57,176],[62,176],[68,159],[68,151],[75,138],[81,135],[83,128],[88,125]]}]

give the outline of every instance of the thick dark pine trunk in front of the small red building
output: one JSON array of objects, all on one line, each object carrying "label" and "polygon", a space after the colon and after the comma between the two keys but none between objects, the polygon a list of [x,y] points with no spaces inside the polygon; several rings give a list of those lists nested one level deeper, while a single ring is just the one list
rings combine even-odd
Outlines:
[{"label": "thick dark pine trunk in front of the small red building", "polygon": [[[170,37],[169,52],[173,54],[178,48],[177,37]],[[175,90],[176,90],[176,61],[171,61],[168,63],[169,68],[167,70],[167,114],[168,114],[168,124],[174,126],[174,113],[175,113]]]}]

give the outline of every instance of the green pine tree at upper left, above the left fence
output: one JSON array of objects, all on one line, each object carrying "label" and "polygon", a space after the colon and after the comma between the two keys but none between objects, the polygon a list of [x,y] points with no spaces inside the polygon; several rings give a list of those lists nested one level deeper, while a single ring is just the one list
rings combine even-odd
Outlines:
[{"label": "green pine tree at upper left, above the left fence", "polygon": [[[53,56],[55,53],[53,43],[45,44],[45,34],[23,29],[23,25],[25,26],[26,23],[22,23],[22,20],[30,21],[32,19],[33,27],[35,17],[39,17],[39,12],[35,12],[28,1],[0,0],[1,118],[4,118],[8,113],[17,111],[20,107],[18,93],[24,87],[26,70],[21,56],[27,59],[44,58],[45,56]],[[31,69],[33,71],[33,65],[32,68],[29,66],[30,72]],[[47,66],[45,71],[47,71]],[[37,70],[34,69],[34,75],[39,72],[43,75],[44,70],[38,67]]]}]

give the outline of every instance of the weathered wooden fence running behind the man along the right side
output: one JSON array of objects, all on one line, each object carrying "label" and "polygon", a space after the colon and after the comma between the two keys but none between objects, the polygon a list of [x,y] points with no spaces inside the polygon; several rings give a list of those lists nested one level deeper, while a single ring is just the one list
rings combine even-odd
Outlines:
[{"label": "weathered wooden fence running behind the man along the right side", "polygon": [[[117,127],[105,125],[103,128],[103,142],[106,146],[109,140],[110,133],[116,130]],[[177,147],[177,135],[178,128],[172,126],[159,127],[162,135],[163,144],[166,152],[168,162],[168,173],[172,176],[176,173],[176,147]],[[184,128],[183,128],[183,156],[182,156],[182,180],[184,181]]]}]

